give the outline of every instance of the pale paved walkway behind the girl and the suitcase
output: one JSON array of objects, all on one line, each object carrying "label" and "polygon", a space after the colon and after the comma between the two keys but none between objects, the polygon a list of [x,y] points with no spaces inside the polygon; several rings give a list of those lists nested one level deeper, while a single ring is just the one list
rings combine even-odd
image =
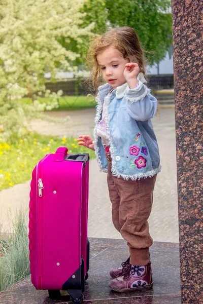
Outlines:
[{"label": "pale paved walkway behind the girl and the suitcase", "polygon": [[[160,148],[162,171],[158,174],[154,191],[154,203],[149,218],[150,232],[154,241],[178,242],[178,205],[176,176],[175,117],[173,108],[160,109],[158,117],[153,118],[154,130]],[[32,121],[30,128],[42,134],[77,137],[92,134],[95,109],[79,111],[54,111],[46,113],[53,117],[71,120],[64,124],[46,121]],[[99,172],[96,160],[90,161],[89,187],[89,237],[121,238],[111,220],[111,203],[106,183],[107,175]],[[28,208],[29,184],[18,184],[0,192],[0,222],[7,226],[7,213],[12,216],[23,206]],[[12,217],[10,215],[10,217]]]}]

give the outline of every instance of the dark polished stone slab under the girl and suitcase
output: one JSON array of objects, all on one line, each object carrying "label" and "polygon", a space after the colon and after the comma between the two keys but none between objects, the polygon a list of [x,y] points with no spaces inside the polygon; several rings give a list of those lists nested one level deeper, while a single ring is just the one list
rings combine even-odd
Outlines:
[{"label": "dark polished stone slab under the girl and suitcase", "polygon": [[[181,304],[179,246],[155,242],[151,249],[154,286],[151,290],[127,293],[110,289],[109,271],[128,256],[124,240],[90,238],[89,277],[85,282],[84,304]],[[53,300],[47,290],[36,290],[30,276],[0,293],[1,304],[67,304],[67,291]],[[197,304],[197,303],[195,303]]]}]

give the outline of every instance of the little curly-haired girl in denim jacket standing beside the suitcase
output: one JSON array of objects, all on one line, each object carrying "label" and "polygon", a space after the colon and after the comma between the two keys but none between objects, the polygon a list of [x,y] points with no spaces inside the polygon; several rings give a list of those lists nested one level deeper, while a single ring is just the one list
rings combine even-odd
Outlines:
[{"label": "little curly-haired girl in denim jacket standing beside the suitcase", "polygon": [[150,289],[153,240],[147,220],[161,168],[151,123],[157,100],[144,84],[144,55],[134,29],[124,26],[96,35],[87,58],[93,61],[96,125],[94,139],[80,135],[78,142],[95,150],[100,170],[108,172],[113,223],[130,254],[121,267],[111,270],[109,286],[119,292]]}]

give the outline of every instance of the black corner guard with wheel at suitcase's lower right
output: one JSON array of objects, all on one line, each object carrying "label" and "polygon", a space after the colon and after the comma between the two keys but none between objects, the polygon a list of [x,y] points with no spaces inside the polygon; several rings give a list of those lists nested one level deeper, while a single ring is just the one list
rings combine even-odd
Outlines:
[{"label": "black corner guard with wheel at suitcase's lower right", "polygon": [[81,259],[80,267],[75,271],[75,273],[65,281],[62,285],[62,290],[67,290],[71,296],[71,301],[73,303],[82,303],[83,292],[84,292],[84,259]]}]

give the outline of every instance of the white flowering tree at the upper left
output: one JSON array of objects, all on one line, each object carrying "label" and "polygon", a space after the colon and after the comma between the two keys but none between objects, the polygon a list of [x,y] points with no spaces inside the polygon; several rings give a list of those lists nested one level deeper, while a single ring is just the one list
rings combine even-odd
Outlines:
[{"label": "white flowering tree at the upper left", "polygon": [[[42,116],[42,110],[56,106],[61,92],[45,89],[45,72],[52,80],[59,70],[76,70],[73,65],[83,36],[91,35],[92,25],[81,27],[86,0],[1,0],[0,2],[0,141],[25,128],[25,118]],[[65,48],[61,45],[61,36]],[[68,47],[70,44],[70,48]],[[40,96],[52,103],[40,104]],[[29,96],[33,104],[19,102]],[[54,103],[55,101],[55,103]]]}]

